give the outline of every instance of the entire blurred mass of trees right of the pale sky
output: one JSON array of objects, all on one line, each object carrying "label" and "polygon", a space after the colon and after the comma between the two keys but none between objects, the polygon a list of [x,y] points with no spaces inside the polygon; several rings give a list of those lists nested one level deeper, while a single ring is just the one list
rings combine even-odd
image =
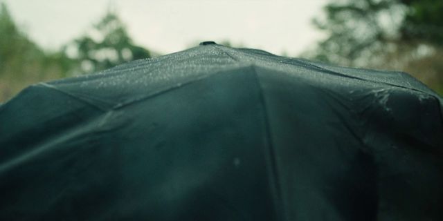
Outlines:
[{"label": "entire blurred mass of trees right of the pale sky", "polygon": [[314,25],[327,34],[304,57],[404,70],[443,93],[442,0],[339,0]]}]

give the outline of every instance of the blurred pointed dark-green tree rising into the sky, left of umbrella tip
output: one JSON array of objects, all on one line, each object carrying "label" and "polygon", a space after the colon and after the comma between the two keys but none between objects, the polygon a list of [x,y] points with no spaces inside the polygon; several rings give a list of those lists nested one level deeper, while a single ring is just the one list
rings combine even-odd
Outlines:
[{"label": "blurred pointed dark-green tree rising into the sky, left of umbrella tip", "polygon": [[148,50],[132,43],[125,25],[111,10],[87,35],[75,39],[64,51],[78,60],[81,73],[92,73],[127,61],[151,57]]}]

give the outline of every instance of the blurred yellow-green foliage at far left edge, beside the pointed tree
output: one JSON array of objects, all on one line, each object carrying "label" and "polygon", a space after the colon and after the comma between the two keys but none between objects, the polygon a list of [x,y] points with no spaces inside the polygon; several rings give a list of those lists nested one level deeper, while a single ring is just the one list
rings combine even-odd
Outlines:
[{"label": "blurred yellow-green foliage at far left edge, beside the pointed tree", "polygon": [[73,63],[60,52],[44,52],[19,30],[0,5],[0,102],[38,81],[65,77]]}]

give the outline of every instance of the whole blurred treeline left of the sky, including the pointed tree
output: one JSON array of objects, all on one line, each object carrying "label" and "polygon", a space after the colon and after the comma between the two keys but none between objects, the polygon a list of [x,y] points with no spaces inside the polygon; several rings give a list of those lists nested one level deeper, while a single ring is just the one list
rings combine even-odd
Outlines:
[{"label": "whole blurred treeline left of the sky, including the pointed tree", "polygon": [[151,57],[136,46],[116,12],[108,11],[89,32],[57,51],[35,44],[0,5],[0,103],[39,81],[71,77]]}]

